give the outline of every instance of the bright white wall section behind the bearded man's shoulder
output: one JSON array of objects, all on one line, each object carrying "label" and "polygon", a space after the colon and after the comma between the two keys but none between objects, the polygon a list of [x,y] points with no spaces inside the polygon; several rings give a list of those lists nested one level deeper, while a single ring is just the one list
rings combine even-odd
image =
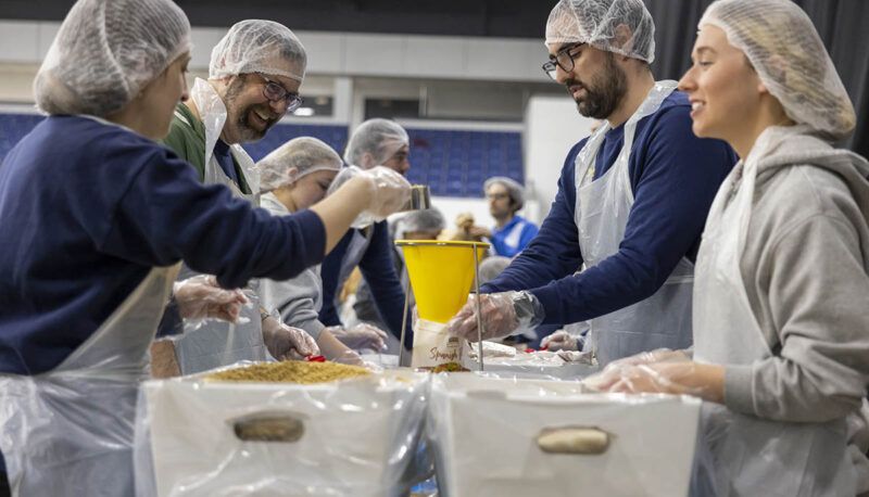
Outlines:
[{"label": "bright white wall section behind the bearded man's shoulder", "polygon": [[525,183],[526,196],[539,204],[542,221],[558,192],[558,177],[567,152],[591,133],[594,119],[583,117],[576,103],[564,97],[531,97],[525,113]]}]

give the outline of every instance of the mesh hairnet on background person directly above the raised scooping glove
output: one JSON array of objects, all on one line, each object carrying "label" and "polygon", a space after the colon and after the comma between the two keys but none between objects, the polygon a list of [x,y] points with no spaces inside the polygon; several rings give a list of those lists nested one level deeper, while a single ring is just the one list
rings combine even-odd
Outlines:
[{"label": "mesh hairnet on background person directly above the raised scooping glove", "polygon": [[[368,169],[374,166],[382,165],[402,146],[410,146],[411,139],[407,131],[394,120],[389,119],[368,119],[361,124],[350,137],[344,152],[344,161],[348,164]],[[364,161],[365,152],[371,155],[370,161]],[[365,162],[363,164],[363,162]]]}]

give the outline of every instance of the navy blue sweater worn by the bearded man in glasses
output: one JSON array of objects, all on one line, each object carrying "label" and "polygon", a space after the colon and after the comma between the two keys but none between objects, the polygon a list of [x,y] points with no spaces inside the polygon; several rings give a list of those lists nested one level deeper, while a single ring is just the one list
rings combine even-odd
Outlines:
[{"label": "navy blue sweater worn by the bearded man in glasses", "polygon": [[[558,193],[538,235],[480,290],[529,290],[543,305],[543,323],[564,324],[647,298],[682,256],[693,262],[706,214],[736,155],[722,141],[695,137],[690,111],[688,97],[675,91],[656,113],[637,124],[628,161],[634,203],[616,254],[574,275],[582,264],[574,221],[575,160],[587,138],[567,154]],[[624,125],[607,131],[597,152],[594,179],[615,163],[624,131]]]}]

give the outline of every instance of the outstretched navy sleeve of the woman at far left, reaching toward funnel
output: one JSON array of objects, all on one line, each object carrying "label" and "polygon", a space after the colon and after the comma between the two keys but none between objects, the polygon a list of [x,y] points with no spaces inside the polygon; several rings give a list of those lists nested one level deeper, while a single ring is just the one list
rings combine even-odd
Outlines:
[{"label": "outstretched navy sleeve of the woman at far left, reaching toward funnel", "polygon": [[165,149],[152,153],[121,192],[104,237],[105,253],[149,266],[184,259],[224,288],[250,278],[292,278],[323,260],[326,229],[315,213],[273,217],[223,186],[202,186]]}]

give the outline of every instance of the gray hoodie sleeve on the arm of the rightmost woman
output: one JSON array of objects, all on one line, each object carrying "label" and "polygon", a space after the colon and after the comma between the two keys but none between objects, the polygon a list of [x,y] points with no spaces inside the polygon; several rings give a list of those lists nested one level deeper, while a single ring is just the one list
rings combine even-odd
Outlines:
[{"label": "gray hoodie sleeve on the arm of the rightmost woman", "polygon": [[725,369],[725,403],[760,418],[822,422],[860,406],[869,382],[869,277],[856,230],[818,215],[776,242],[769,306],[781,353]]}]

